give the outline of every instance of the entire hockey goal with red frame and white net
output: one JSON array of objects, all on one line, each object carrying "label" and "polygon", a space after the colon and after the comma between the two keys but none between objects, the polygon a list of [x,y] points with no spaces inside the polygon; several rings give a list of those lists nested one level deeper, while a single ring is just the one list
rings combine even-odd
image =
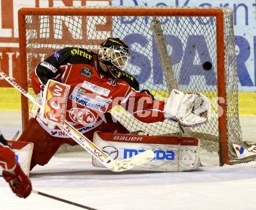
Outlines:
[{"label": "entire hockey goal with red frame and white net", "polygon": [[[158,23],[158,28],[154,23]],[[232,9],[171,6],[20,9],[23,88],[33,93],[31,72],[59,49],[71,46],[97,52],[99,44],[108,37],[118,37],[129,44],[131,62],[127,72],[156,99],[166,100],[174,87],[183,92],[201,92],[212,103],[211,120],[197,128],[184,129],[185,132],[175,122],[145,124],[121,107],[115,107],[111,114],[118,121],[130,131],[140,130],[149,135],[196,137],[201,139],[202,147],[218,151],[221,165],[238,162],[232,143],[243,142]],[[23,128],[31,117],[31,106],[22,97]]]}]

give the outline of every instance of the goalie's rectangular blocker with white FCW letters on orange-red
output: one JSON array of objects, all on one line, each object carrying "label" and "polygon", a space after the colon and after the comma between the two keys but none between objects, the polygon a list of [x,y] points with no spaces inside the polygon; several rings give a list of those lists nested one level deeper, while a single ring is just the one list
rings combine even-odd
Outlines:
[{"label": "goalie's rectangular blocker with white FCW letters on orange-red", "polygon": [[69,85],[49,80],[45,87],[42,109],[44,118],[55,124],[64,125]]}]

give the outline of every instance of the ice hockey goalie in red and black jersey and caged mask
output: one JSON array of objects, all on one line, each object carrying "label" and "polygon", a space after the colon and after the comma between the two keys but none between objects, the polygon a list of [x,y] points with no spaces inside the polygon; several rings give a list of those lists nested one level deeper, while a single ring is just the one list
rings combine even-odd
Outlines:
[{"label": "ice hockey goalie in red and black jersey and caged mask", "polygon": [[[106,39],[98,53],[64,48],[38,64],[33,73],[33,89],[41,99],[49,79],[69,85],[66,121],[90,140],[95,132],[129,133],[108,113],[117,105],[145,123],[172,120],[183,126],[197,126],[207,122],[210,106],[206,97],[174,90],[168,102],[155,100],[150,91],[140,90],[136,79],[126,73],[129,60],[129,46],[119,38]],[[76,144],[41,116],[31,118],[19,138],[34,143],[30,169],[47,164],[62,144]],[[180,140],[176,143],[180,145]]]}]

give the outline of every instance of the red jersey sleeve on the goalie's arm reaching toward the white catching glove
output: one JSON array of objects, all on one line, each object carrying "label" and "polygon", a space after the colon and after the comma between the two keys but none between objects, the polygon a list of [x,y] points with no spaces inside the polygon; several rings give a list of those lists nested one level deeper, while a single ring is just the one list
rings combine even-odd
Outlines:
[{"label": "red jersey sleeve on the goalie's arm reaching toward the white catching glove", "polygon": [[163,116],[165,102],[155,100],[148,90],[139,91],[130,88],[120,105],[141,122],[151,123],[165,120]]}]

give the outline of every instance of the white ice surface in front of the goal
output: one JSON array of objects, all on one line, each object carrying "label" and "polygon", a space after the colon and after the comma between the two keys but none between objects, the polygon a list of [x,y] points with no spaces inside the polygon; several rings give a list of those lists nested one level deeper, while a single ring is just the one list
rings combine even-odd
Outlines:
[{"label": "white ice surface in front of the goal", "polygon": [[[6,136],[15,126],[0,126]],[[3,133],[4,133],[3,132]],[[73,156],[73,157],[72,157]],[[202,151],[191,172],[115,173],[91,166],[86,152],[58,155],[31,172],[34,190],[96,209],[256,209],[256,162],[218,166],[218,155]],[[0,209],[81,209],[41,195],[16,197],[0,178]]]}]

